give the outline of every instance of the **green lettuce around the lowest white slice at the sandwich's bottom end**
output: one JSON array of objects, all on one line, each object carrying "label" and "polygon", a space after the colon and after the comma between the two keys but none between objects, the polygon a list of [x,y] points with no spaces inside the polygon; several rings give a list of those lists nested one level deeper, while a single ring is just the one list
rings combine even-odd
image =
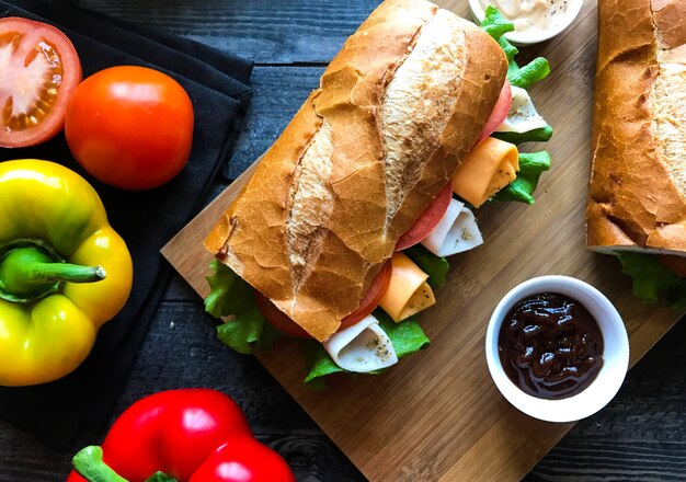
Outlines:
[{"label": "green lettuce around the lowest white slice at the sandwich's bottom end", "polygon": [[[398,358],[419,352],[428,346],[431,341],[424,334],[424,330],[412,317],[396,323],[380,309],[374,312],[374,317],[379,320],[379,325],[396,348]],[[347,372],[339,367],[324,347],[313,341],[307,340],[302,342],[306,363],[310,367],[309,372],[305,377],[305,383],[311,389],[327,388],[325,377],[332,374]],[[378,375],[385,370],[377,370],[364,375]],[[359,374],[362,375],[362,374]]]}]

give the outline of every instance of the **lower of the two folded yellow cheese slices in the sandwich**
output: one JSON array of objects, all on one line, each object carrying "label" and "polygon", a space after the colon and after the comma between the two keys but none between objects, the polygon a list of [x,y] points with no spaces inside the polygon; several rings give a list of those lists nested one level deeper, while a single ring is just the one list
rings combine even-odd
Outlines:
[{"label": "lower of the two folded yellow cheese slices in the sandwich", "polygon": [[395,321],[402,321],[436,303],[434,292],[426,283],[428,275],[401,252],[390,260],[391,275],[388,289],[379,306]]}]

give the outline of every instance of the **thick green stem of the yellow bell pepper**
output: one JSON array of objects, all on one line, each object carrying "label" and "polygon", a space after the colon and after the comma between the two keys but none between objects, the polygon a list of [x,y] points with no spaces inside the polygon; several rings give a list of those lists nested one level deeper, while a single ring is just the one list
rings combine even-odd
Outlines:
[{"label": "thick green stem of the yellow bell pepper", "polygon": [[56,261],[39,246],[14,248],[0,259],[0,295],[4,299],[32,300],[57,291],[61,283],[94,283],[105,278],[102,266]]}]

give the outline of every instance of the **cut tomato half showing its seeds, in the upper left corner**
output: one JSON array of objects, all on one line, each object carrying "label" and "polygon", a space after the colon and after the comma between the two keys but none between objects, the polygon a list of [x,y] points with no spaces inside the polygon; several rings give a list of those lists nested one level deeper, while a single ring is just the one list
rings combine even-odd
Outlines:
[{"label": "cut tomato half showing its seeds, in the upper left corner", "polygon": [[0,147],[34,146],[59,133],[81,62],[71,41],[33,20],[0,19]]}]

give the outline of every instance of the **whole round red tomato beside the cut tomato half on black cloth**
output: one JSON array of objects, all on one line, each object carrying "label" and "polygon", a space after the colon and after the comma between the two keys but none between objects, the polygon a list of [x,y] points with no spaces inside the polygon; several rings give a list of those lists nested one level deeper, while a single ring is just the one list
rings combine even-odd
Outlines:
[{"label": "whole round red tomato beside the cut tomato half on black cloth", "polygon": [[149,190],[181,172],[193,141],[193,103],[171,77],[112,67],[85,79],[65,118],[71,153],[91,175],[124,190]]}]

